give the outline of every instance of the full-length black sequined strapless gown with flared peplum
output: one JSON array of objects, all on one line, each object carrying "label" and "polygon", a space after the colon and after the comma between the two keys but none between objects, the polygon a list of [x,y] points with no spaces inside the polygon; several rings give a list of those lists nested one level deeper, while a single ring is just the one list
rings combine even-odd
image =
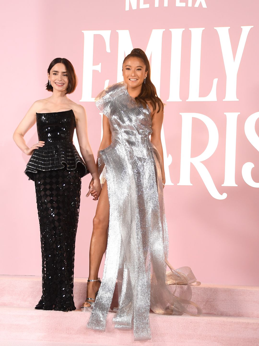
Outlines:
[{"label": "full-length black sequined strapless gown with flared peplum", "polygon": [[39,140],[25,170],[35,182],[42,254],[42,310],[75,310],[74,257],[81,177],[89,171],[73,145],[73,110],[36,113]]}]

